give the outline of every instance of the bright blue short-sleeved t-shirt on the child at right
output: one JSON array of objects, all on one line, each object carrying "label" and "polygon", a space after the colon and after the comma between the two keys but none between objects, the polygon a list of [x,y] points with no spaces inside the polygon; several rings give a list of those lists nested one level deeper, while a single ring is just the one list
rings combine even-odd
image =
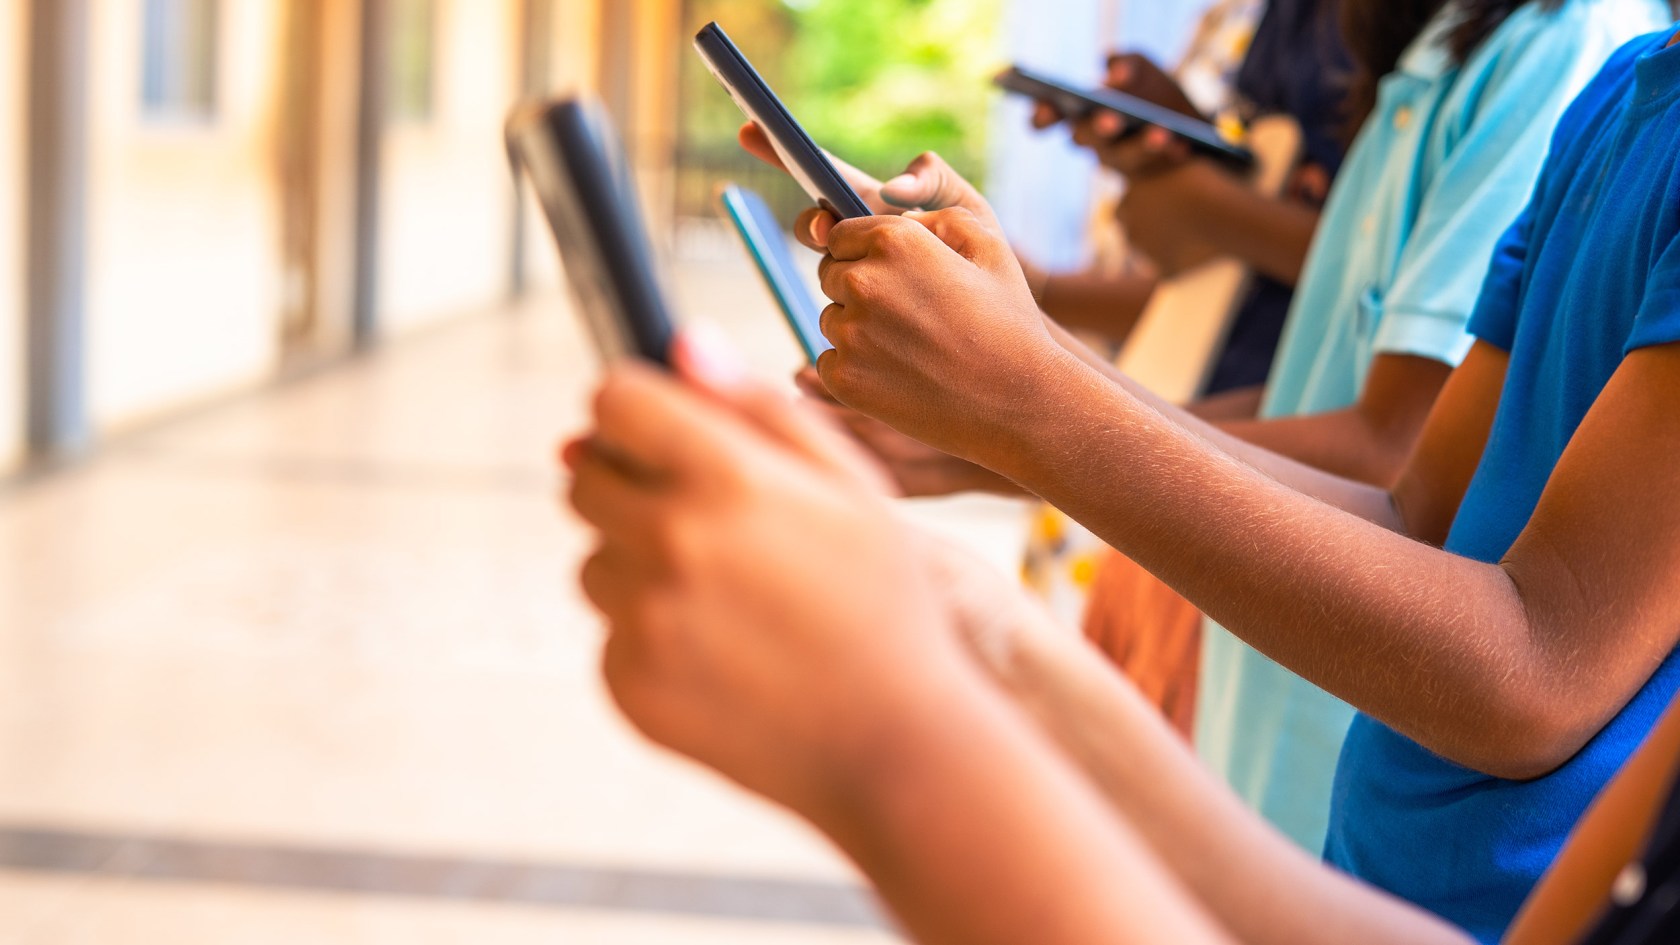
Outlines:
[{"label": "bright blue short-sleeved t-shirt on the child at right", "polygon": [[[1663,49],[1668,37],[1621,49],[1571,106],[1495,252],[1470,331],[1510,351],[1510,367],[1448,552],[1499,562],[1623,358],[1680,341],[1680,49]],[[1356,716],[1326,856],[1495,942],[1677,688],[1670,654],[1579,755],[1530,782],[1463,768]]]}]

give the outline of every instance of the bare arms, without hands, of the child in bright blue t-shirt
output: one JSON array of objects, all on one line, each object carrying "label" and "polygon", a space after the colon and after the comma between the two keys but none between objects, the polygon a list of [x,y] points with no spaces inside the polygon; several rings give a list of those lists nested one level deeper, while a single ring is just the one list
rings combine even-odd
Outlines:
[{"label": "bare arms, without hands, of the child in bright blue t-shirt", "polygon": [[1240,446],[1079,365],[1038,390],[1063,422],[993,427],[971,459],[1320,688],[1446,758],[1532,779],[1574,757],[1675,644],[1680,350],[1626,360],[1529,528],[1488,565],[1426,543],[1473,474],[1504,363],[1478,345],[1393,493]]}]

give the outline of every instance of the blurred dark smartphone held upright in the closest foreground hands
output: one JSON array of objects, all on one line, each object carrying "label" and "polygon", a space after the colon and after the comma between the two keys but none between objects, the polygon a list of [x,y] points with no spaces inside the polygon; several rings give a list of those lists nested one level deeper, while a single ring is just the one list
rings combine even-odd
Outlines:
[{"label": "blurred dark smartphone held upright in the closest foreground hands", "polygon": [[618,135],[593,99],[531,103],[506,128],[514,173],[524,170],[554,232],[603,362],[669,367],[675,335]]}]

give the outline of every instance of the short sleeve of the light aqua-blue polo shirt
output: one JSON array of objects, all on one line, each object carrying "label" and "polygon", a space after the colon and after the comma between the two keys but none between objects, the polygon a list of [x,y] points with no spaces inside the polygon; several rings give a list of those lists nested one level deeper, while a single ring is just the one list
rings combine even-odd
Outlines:
[{"label": "short sleeve of the light aqua-blue polo shirt", "polygon": [[1472,82],[1473,116],[1421,197],[1384,299],[1378,353],[1450,365],[1470,353],[1467,326],[1490,286],[1488,261],[1515,267],[1499,289],[1520,279],[1522,247],[1502,235],[1517,232],[1510,224],[1534,195],[1564,109],[1618,45],[1603,32],[1566,13],[1542,15],[1465,64],[1458,82]]}]

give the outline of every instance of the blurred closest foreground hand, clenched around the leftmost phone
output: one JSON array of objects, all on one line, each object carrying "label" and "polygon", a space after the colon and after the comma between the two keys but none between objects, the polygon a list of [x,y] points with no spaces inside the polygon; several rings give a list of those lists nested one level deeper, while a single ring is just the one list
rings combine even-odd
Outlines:
[{"label": "blurred closest foreground hand, clenched around the leftmost phone", "polygon": [[973,663],[872,464],[690,336],[674,355],[687,385],[612,372],[563,454],[606,684],[655,742],[810,812]]}]

